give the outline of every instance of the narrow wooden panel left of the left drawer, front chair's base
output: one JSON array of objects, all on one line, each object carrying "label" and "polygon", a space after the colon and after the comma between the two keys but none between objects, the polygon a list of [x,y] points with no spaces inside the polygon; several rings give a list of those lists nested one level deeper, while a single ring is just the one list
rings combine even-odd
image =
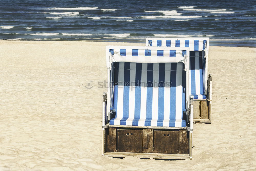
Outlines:
[{"label": "narrow wooden panel left of the left drawer, front chair's base", "polygon": [[107,135],[106,151],[116,152],[116,128],[109,127]]}]

